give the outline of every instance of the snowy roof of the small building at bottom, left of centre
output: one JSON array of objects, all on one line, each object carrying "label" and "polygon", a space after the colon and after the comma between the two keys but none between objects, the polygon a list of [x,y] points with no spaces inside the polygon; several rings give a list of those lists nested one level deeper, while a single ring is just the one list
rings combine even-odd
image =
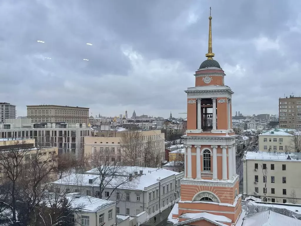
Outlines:
[{"label": "snowy roof of the small building at bottom, left of centre", "polygon": [[101,209],[116,203],[114,201],[98,199],[91,196],[76,197],[74,193],[67,194],[66,198],[69,200],[72,206],[83,206],[83,210],[88,212],[98,212]]}]

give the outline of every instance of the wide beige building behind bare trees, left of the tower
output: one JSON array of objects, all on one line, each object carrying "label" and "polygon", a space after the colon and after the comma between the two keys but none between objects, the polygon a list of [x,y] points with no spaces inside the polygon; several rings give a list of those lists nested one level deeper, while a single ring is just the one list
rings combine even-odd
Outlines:
[{"label": "wide beige building behind bare trees, left of the tower", "polygon": [[[129,131],[122,132],[98,132],[98,137],[85,137],[85,155],[92,155],[94,151],[103,151],[109,150],[113,153],[117,154],[117,159],[114,161],[121,161],[122,149],[120,147],[120,140],[124,133],[131,133]],[[141,155],[139,156],[138,162],[141,166],[143,166],[144,159],[142,156],[142,149],[147,144],[148,140],[150,140],[153,146],[158,150],[158,152],[162,153],[162,161],[164,160],[164,150],[165,150],[165,138],[164,133],[161,133],[161,130],[141,130]],[[120,154],[120,156],[118,155]]]}]

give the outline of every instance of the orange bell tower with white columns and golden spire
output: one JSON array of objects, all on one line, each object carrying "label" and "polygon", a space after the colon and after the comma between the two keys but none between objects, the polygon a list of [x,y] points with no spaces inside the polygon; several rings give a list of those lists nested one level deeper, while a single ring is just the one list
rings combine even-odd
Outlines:
[{"label": "orange bell tower with white columns and golden spire", "polygon": [[185,221],[183,225],[189,225],[187,217],[181,218],[185,213],[222,215],[229,219],[223,222],[227,225],[236,225],[241,214],[235,167],[237,135],[231,117],[233,92],[224,84],[225,72],[213,60],[211,20],[210,7],[207,59],[194,74],[195,86],[185,91],[185,177],[181,180],[178,214],[173,214],[173,218]]}]

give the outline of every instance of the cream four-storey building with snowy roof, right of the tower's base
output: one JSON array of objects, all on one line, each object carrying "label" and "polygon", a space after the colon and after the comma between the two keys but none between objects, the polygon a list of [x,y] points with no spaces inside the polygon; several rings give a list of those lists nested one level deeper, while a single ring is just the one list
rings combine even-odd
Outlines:
[{"label": "cream four-storey building with snowy roof, right of the tower's base", "polygon": [[301,203],[301,153],[247,152],[243,164],[245,196],[267,202]]}]

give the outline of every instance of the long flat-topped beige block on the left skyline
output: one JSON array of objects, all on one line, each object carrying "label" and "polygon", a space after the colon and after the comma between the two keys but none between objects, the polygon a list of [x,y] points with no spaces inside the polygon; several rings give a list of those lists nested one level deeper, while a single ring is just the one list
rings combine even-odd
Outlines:
[{"label": "long flat-topped beige block on the left skyline", "polygon": [[89,108],[59,105],[27,105],[27,118],[32,123],[89,123]]}]

